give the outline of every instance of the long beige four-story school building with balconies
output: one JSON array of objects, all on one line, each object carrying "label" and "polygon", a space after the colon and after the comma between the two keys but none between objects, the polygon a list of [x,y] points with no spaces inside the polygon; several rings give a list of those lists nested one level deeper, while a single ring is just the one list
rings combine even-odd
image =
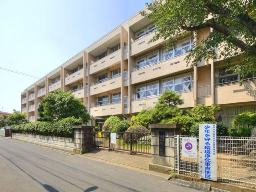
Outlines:
[{"label": "long beige four-story school building with balconies", "polygon": [[[200,44],[210,28],[197,32],[195,40],[180,36],[176,49],[166,53],[164,41],[148,44],[154,36],[154,22],[140,13],[76,54],[21,93],[21,111],[36,121],[37,107],[48,93],[71,90],[86,105],[92,124],[102,125],[110,115],[130,119],[145,106],[154,106],[165,90],[182,95],[181,108],[196,104],[219,104],[225,124],[235,115],[256,110],[256,74],[242,86],[240,76],[226,72],[224,58],[205,61],[190,68],[187,50]],[[218,51],[218,49],[216,49]]]}]

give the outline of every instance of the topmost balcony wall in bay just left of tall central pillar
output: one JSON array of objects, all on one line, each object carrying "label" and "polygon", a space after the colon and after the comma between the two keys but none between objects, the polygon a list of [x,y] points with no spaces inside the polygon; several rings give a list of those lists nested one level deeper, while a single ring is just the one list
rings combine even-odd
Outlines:
[{"label": "topmost balcony wall in bay just left of tall central pillar", "polygon": [[121,49],[90,64],[90,74],[94,74],[96,72],[109,68],[115,65],[116,63],[120,62],[120,60],[121,60]]}]

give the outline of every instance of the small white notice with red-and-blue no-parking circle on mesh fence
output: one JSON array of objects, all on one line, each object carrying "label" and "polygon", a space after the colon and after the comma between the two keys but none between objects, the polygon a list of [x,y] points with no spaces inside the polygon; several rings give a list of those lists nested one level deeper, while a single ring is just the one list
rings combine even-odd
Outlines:
[{"label": "small white notice with red-and-blue no-parking circle on mesh fence", "polygon": [[182,137],[182,157],[197,158],[196,138]]}]

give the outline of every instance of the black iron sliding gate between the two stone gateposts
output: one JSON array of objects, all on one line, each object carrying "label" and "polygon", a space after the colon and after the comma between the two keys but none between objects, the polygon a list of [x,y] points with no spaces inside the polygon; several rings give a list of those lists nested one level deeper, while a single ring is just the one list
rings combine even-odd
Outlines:
[{"label": "black iron sliding gate between the two stone gateposts", "polygon": [[94,131],[94,146],[151,154],[151,133]]}]

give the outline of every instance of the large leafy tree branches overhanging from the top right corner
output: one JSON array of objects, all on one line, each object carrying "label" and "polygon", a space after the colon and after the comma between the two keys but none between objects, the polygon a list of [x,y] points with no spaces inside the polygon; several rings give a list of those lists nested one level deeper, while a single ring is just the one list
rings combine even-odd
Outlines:
[{"label": "large leafy tree branches overhanging from the top right corner", "polygon": [[[210,29],[186,56],[192,66],[202,60],[225,58],[232,70],[246,78],[256,71],[256,1],[255,0],[157,0],[148,5],[142,15],[156,21],[156,35],[167,40],[166,47],[175,47],[177,37],[190,33],[192,39],[198,30]],[[216,54],[216,47],[221,48]],[[242,55],[242,57],[240,57]]]}]

